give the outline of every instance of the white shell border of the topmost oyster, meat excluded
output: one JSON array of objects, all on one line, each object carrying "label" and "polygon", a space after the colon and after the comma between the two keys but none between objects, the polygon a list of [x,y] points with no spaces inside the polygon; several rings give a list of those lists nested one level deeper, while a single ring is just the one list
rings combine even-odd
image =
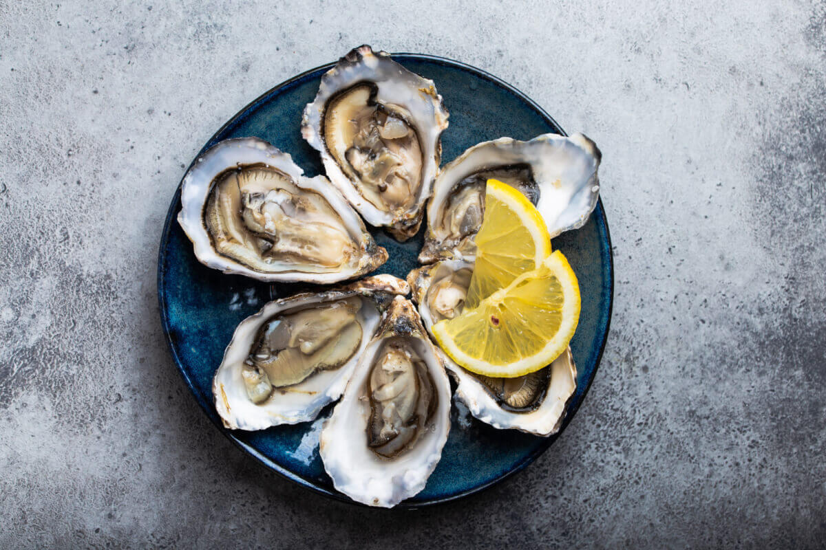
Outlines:
[{"label": "white shell border of the topmost oyster, meat excluded", "polygon": [[[377,85],[374,99],[378,103],[402,106],[410,111],[411,122],[419,134],[423,157],[421,186],[414,206],[406,212],[387,212],[365,200],[354,182],[342,172],[324,142],[322,124],[327,103],[336,93],[359,82],[373,82]],[[406,238],[415,234],[419,228],[425,201],[430,197],[434,178],[439,171],[439,136],[447,127],[448,111],[444,109],[442,96],[436,92],[432,80],[411,73],[390,59],[387,52],[374,52],[370,46],[363,45],[339,59],[339,63],[321,78],[316,99],[308,103],[304,110],[301,135],[320,153],[325,172],[333,185],[368,223],[373,226],[401,226],[403,238]],[[409,228],[405,229],[404,226]]]}]

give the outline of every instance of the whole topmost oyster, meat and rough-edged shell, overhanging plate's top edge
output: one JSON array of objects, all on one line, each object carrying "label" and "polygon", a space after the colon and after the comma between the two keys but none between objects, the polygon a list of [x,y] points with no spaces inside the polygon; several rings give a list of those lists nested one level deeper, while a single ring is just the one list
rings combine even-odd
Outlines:
[{"label": "whole topmost oyster, meat and rough-edged shell, overhanging plate's top edge", "polygon": [[359,214],[404,241],[419,230],[447,127],[433,81],[363,45],[321,78],[301,134]]}]

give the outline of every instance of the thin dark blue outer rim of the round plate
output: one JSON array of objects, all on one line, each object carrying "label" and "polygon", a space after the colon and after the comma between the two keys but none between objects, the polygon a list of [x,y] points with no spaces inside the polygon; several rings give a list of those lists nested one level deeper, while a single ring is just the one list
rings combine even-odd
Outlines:
[{"label": "thin dark blue outer rim of the round plate", "polygon": [[[567,136],[566,132],[562,129],[560,125],[558,125],[557,121],[553,119],[551,115],[548,114],[539,104],[537,104],[534,100],[532,100],[529,96],[525,95],[525,93],[521,92],[516,87],[512,86],[508,82],[505,82],[501,78],[498,78],[491,73],[487,73],[487,71],[482,70],[481,68],[474,67],[469,65],[468,63],[463,63],[461,61],[456,61],[454,59],[449,59],[446,57],[442,57],[439,55],[432,55],[432,54],[415,54],[410,52],[399,52],[399,53],[392,53],[390,54],[393,59],[398,60],[415,60],[415,61],[430,61],[432,63],[439,63],[441,65],[445,65],[452,68],[458,68],[463,71],[467,71],[472,73],[474,76],[484,78],[488,82],[495,84],[498,87],[504,88],[507,92],[510,92],[517,96],[520,100],[525,101],[531,109],[533,109],[537,115],[542,117],[549,125],[553,126],[553,129],[560,135]],[[233,115],[230,120],[227,120],[224,125],[221,125],[221,128],[218,129],[215,134],[212,134],[210,139],[207,140],[207,143],[198,151],[195,157],[190,162],[189,167],[183,172],[183,176],[181,176],[181,181],[178,182],[178,186],[175,189],[173,194],[173,200],[169,204],[169,210],[167,211],[166,219],[164,221],[164,231],[161,233],[160,243],[159,243],[159,251],[158,251],[158,303],[159,303],[159,313],[161,317],[161,327],[164,331],[164,339],[166,340],[167,346],[169,347],[169,352],[172,355],[173,362],[178,369],[178,373],[181,374],[183,377],[183,381],[187,384],[192,396],[195,397],[195,400],[201,406],[203,411],[207,414],[207,417],[210,419],[213,425],[224,435],[227,439],[229,439],[236,447],[243,450],[245,453],[249,454],[252,458],[255,459],[257,463],[259,463],[264,468],[267,468],[271,472],[275,472],[281,477],[284,477],[291,482],[295,482],[301,487],[306,487],[311,491],[315,491],[316,493],[324,496],[328,496],[336,501],[346,502],[350,505],[358,505],[363,507],[368,507],[366,505],[362,505],[358,502],[355,502],[349,499],[344,494],[340,493],[339,491],[332,491],[326,489],[325,487],[319,487],[314,482],[305,479],[297,475],[295,472],[287,468],[283,468],[278,463],[274,463],[273,460],[267,458],[263,454],[259,452],[258,449],[255,449],[252,445],[245,443],[244,441],[240,440],[239,438],[235,437],[234,433],[231,430],[225,429],[225,427],[221,424],[221,421],[218,420],[217,415],[213,415],[213,404],[205,399],[202,398],[200,390],[195,387],[195,384],[192,382],[188,371],[183,368],[183,362],[181,361],[178,353],[175,349],[173,338],[171,335],[170,327],[169,327],[169,312],[167,304],[164,300],[165,296],[165,284],[164,284],[164,273],[167,270],[167,262],[166,256],[164,255],[164,251],[166,250],[169,244],[169,233],[171,228],[173,227],[173,223],[177,219],[178,213],[178,204],[181,201],[181,186],[183,185],[183,178],[186,176],[189,169],[192,168],[192,165],[197,161],[197,158],[200,157],[207,148],[210,148],[213,144],[217,143],[218,139],[217,136],[223,134],[225,131],[232,129],[241,119],[246,118],[249,115],[251,110],[257,109],[264,101],[268,99],[269,96],[273,95],[275,92],[283,92],[288,90],[291,87],[296,86],[297,84],[303,82],[307,78],[315,78],[316,73],[323,73],[330,68],[335,66],[336,62],[325,63],[323,65],[319,65],[316,68],[311,68],[303,73],[299,73],[292,78],[287,78],[283,82],[278,83],[276,86],[268,89],[266,92],[263,92],[261,95],[256,97],[253,101],[250,101],[246,106],[240,109],[235,115]],[[432,505],[439,505],[444,504],[450,501],[456,501],[466,496],[476,495],[490,487],[493,487],[501,482],[504,482],[506,479],[514,476],[516,473],[521,472],[525,468],[529,466],[529,464],[534,463],[534,460],[539,458],[540,455],[544,454],[545,451],[553,444],[555,440],[558,439],[560,435],[563,434],[563,431],[567,428],[567,425],[573,420],[573,417],[576,415],[579,408],[582,406],[582,402],[585,401],[585,398],[588,394],[588,391],[591,389],[591,384],[596,378],[596,373],[600,368],[600,364],[602,361],[602,355],[605,352],[605,344],[608,341],[608,334],[610,332],[610,324],[611,324],[611,317],[613,314],[614,309],[614,249],[611,245],[611,237],[610,237],[610,229],[608,227],[608,219],[605,217],[605,208],[602,205],[602,197],[600,196],[597,199],[596,208],[594,209],[592,215],[596,215],[599,218],[599,222],[601,225],[601,229],[604,230],[605,233],[605,251],[601,251],[601,256],[603,261],[605,261],[605,265],[607,266],[608,270],[608,288],[607,288],[607,299],[608,299],[608,312],[605,319],[605,331],[601,335],[601,345],[600,350],[596,355],[596,362],[594,364],[593,374],[591,374],[591,378],[589,378],[586,382],[586,387],[582,391],[582,398],[577,403],[573,403],[572,407],[567,410],[565,418],[563,420],[563,424],[560,426],[558,432],[556,434],[550,435],[549,437],[545,438],[543,444],[540,444],[533,452],[528,454],[520,464],[518,464],[515,468],[511,468],[504,474],[501,474],[498,477],[495,477],[481,485],[477,485],[476,487],[472,487],[471,489],[460,491],[453,495],[443,496],[439,498],[432,498],[425,501],[402,501],[398,505],[395,506],[396,509],[408,509],[414,510],[417,508],[422,508],[425,506],[432,506]],[[599,229],[598,229],[599,230]],[[603,287],[605,289],[605,287]],[[453,397],[451,397],[453,399]],[[415,498],[411,497],[411,498]]]}]

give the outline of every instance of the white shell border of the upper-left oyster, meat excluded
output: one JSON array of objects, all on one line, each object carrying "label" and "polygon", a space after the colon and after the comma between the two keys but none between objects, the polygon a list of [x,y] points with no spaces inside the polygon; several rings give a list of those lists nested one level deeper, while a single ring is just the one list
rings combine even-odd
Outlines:
[{"label": "white shell border of the upper-left oyster, meat excluded", "polygon": [[[349,234],[358,243],[361,257],[358,265],[348,270],[311,272],[297,270],[295,264],[273,264],[272,272],[260,272],[244,266],[230,257],[218,254],[212,246],[203,220],[204,206],[217,176],[234,167],[265,164],[276,168],[292,178],[293,183],[301,189],[312,190],[323,196],[330,206],[339,214]],[[311,283],[335,283],[363,275],[381,266],[387,261],[387,251],[378,247],[370,233],[364,227],[362,219],[347,203],[325,176],[306,178],[304,171],[292,162],[292,157],[282,153],[278,148],[258,138],[226,139],[216,143],[199,157],[183,178],[181,187],[181,211],[178,223],[192,241],[195,256],[205,266],[224,273],[246,275],[253,279],[275,281],[306,281]]]}]

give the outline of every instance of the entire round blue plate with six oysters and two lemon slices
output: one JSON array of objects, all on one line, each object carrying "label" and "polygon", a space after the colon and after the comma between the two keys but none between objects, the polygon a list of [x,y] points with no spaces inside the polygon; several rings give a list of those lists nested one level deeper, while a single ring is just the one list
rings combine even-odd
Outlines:
[{"label": "entire round blue plate with six oysters and two lemon slices", "polygon": [[488,487],[596,372],[600,162],[487,73],[353,49],[254,101],[183,176],[159,261],[174,359],[230,439],[307,487],[385,508]]}]

